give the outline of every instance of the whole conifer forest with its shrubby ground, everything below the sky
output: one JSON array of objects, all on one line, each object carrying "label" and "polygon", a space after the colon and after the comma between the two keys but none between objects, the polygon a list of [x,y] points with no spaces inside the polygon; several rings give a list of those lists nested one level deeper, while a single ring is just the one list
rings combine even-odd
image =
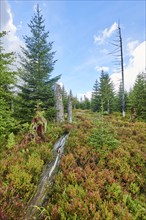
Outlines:
[{"label": "whole conifer forest with its shrubby ground, everything below the sky", "polygon": [[17,68],[0,32],[0,219],[146,219],[146,70],[130,91],[101,70],[79,99],[39,5],[28,27]]}]

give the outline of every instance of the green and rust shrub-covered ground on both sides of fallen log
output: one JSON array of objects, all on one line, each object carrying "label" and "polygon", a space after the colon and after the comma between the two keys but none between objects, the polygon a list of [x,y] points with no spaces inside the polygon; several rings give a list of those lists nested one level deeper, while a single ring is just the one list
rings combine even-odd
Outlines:
[{"label": "green and rust shrub-covered ground on both sides of fallen log", "polygon": [[[70,131],[41,219],[146,219],[146,123],[75,110],[73,124],[49,124],[46,142],[5,148],[0,157],[0,219],[23,219],[53,144]],[[10,141],[9,141],[10,142]]]}]

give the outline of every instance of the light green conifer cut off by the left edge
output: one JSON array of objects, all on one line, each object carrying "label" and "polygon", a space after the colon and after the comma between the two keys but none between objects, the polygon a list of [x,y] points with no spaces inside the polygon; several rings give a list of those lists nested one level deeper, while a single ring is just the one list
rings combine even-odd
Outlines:
[{"label": "light green conifer cut off by the left edge", "polygon": [[15,60],[14,53],[6,53],[2,38],[6,32],[0,32],[0,142],[14,129],[15,120],[12,116],[12,102],[14,99],[12,88],[16,82],[16,72],[12,67]]}]

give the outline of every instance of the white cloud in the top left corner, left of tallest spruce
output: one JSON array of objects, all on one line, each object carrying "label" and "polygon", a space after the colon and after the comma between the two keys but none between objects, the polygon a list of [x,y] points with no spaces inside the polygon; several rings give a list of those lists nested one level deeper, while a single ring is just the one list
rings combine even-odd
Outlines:
[{"label": "white cloud in the top left corner, left of tallest spruce", "polygon": [[13,23],[13,15],[11,8],[6,0],[1,2],[1,29],[0,31],[7,31],[8,34],[2,39],[6,52],[20,53],[20,46],[24,43],[17,36],[17,28]]}]

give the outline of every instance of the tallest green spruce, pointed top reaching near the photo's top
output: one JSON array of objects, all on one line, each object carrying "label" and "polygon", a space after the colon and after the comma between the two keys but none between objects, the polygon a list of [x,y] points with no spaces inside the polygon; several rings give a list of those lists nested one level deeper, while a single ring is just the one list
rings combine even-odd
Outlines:
[{"label": "tallest green spruce, pointed top reaching near the photo's top", "polygon": [[44,19],[37,5],[36,12],[28,24],[31,36],[25,36],[25,47],[22,48],[20,93],[17,116],[21,120],[30,121],[35,107],[39,104],[47,118],[53,116],[53,86],[60,76],[51,78],[54,69],[53,42],[48,42],[49,32],[45,31]]}]

